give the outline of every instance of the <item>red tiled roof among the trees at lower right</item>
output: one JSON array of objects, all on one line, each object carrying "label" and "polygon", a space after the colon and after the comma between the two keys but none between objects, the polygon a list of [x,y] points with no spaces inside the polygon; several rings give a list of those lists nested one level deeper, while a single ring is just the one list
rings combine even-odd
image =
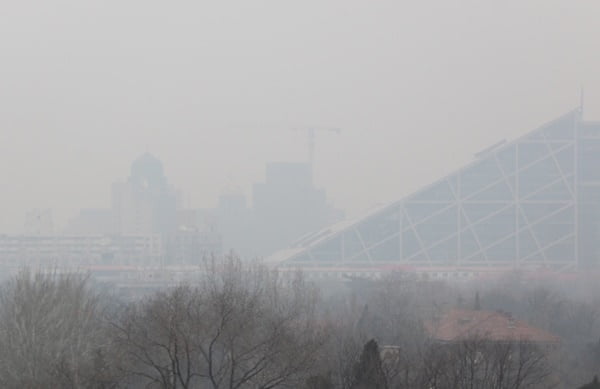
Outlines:
[{"label": "red tiled roof among the trees at lower right", "polygon": [[473,336],[497,342],[560,342],[560,338],[556,335],[530,326],[522,320],[516,320],[505,312],[454,309],[442,315],[440,320],[426,323],[425,328],[431,337],[445,342]]}]

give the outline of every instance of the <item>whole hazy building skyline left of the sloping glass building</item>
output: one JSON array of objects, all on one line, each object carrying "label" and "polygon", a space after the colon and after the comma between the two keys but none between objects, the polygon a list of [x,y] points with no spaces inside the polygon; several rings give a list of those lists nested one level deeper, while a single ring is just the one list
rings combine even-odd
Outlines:
[{"label": "whole hazy building skyline left of the sloping glass building", "polygon": [[32,214],[30,233],[0,239],[0,262],[194,265],[223,251],[255,258],[343,216],[314,187],[307,163],[269,163],[251,206],[239,189],[215,209],[182,209],[177,199],[160,160],[146,153],[112,185],[109,209],[81,210],[56,239],[50,217]]}]

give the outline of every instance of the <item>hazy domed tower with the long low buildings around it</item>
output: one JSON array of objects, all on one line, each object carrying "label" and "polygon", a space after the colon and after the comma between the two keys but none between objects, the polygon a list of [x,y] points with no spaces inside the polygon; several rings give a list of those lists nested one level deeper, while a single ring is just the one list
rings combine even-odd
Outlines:
[{"label": "hazy domed tower with the long low buildings around it", "polygon": [[110,209],[83,209],[63,234],[53,233],[50,211],[28,214],[24,235],[0,235],[0,265],[154,266],[198,264],[221,254],[216,222],[177,207],[162,163],[136,159],[127,181],[112,187]]}]

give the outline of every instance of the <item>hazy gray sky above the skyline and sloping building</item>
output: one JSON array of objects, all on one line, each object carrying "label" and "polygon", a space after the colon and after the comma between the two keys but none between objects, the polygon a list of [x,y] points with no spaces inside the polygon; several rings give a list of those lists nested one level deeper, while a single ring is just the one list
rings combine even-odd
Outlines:
[{"label": "hazy gray sky above the skyline and sloping building", "polygon": [[149,151],[194,207],[306,158],[350,215],[579,104],[600,119],[600,2],[7,1],[0,232],[108,206]]}]

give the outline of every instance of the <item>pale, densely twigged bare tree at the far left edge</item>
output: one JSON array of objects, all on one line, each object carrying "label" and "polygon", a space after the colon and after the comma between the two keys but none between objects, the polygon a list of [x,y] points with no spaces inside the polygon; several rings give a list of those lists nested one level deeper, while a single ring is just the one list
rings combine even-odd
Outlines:
[{"label": "pale, densely twigged bare tree at the far left edge", "polygon": [[101,314],[87,277],[21,271],[0,291],[0,386],[113,386],[98,363],[106,351]]}]

